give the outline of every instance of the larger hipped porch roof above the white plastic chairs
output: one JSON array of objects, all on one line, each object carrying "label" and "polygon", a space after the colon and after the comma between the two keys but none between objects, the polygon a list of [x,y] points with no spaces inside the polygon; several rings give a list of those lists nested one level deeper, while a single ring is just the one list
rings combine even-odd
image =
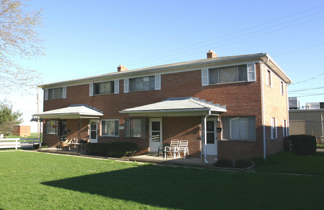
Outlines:
[{"label": "larger hipped porch roof above the white plastic chairs", "polygon": [[201,116],[208,114],[211,111],[212,115],[219,115],[226,112],[226,109],[217,107],[215,105],[204,103],[192,98],[189,99],[175,99],[165,100],[153,104],[134,107],[119,111],[120,113],[127,113],[130,116]]}]

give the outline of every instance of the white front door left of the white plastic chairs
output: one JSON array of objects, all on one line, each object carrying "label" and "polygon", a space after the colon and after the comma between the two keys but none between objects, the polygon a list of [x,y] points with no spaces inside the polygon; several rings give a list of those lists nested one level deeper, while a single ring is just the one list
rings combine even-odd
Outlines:
[{"label": "white front door left of the white plastic chairs", "polygon": [[149,151],[157,152],[162,145],[162,119],[150,119]]}]

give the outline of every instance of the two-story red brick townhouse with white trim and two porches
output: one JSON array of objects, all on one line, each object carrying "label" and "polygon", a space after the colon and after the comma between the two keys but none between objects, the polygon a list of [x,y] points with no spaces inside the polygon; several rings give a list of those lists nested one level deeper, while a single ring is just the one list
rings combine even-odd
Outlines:
[{"label": "two-story red brick townhouse with white trim and two porches", "polygon": [[[135,155],[188,140],[192,157],[282,151],[292,80],[267,54],[217,57],[43,85],[43,143],[133,141]],[[281,128],[281,129],[279,129]]]}]

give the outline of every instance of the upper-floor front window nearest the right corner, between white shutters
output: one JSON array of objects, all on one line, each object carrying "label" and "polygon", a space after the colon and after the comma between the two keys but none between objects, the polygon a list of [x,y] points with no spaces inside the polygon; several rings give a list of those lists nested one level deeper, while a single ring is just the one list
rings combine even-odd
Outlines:
[{"label": "upper-floor front window nearest the right corner, between white shutters", "polygon": [[247,80],[247,65],[209,69],[209,84]]}]

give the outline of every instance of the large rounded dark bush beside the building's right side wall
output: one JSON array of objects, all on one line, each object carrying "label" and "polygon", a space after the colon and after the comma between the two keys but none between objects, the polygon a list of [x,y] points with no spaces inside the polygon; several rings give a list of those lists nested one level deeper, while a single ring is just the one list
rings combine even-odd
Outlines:
[{"label": "large rounded dark bush beside the building's right side wall", "polygon": [[316,152],[316,137],[313,135],[290,135],[287,137],[290,150],[297,155],[313,155]]}]

